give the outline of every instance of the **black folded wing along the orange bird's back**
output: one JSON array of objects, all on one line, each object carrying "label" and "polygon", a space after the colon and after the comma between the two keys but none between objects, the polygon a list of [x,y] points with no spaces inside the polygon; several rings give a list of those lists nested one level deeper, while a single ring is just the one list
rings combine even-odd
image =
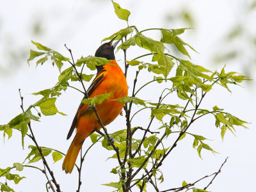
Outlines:
[{"label": "black folded wing along the orange bird's back", "polygon": [[[102,81],[102,79],[104,77],[104,74],[102,74],[102,72],[104,72],[104,71],[106,71],[106,70],[100,70],[100,71],[98,70],[97,76],[95,77],[92,84],[89,86],[89,88],[87,90],[87,94],[88,94],[89,97],[92,94],[93,90],[95,90],[95,88],[99,85],[100,81]],[[100,76],[100,74],[102,74],[102,75]],[[83,99],[86,99],[85,95],[84,95]],[[67,140],[70,138],[74,129],[76,128],[78,111],[79,111],[79,109],[82,108],[82,106],[83,106],[83,102],[81,102],[81,104],[79,105],[79,107],[77,109],[77,112],[76,112],[76,115],[74,116],[74,120],[72,122],[72,125],[71,125],[69,131],[68,131]]]}]

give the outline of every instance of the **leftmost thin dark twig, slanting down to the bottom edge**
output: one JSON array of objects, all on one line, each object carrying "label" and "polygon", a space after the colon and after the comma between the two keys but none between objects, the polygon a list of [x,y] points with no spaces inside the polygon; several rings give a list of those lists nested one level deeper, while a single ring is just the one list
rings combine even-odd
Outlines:
[{"label": "leftmost thin dark twig, slanting down to the bottom edge", "polygon": [[[21,100],[21,105],[20,105],[20,108],[22,109],[23,113],[24,113],[24,107],[23,107],[23,97],[21,96],[21,93],[20,93],[20,89],[19,89],[19,94],[20,94],[20,100]],[[35,135],[32,131],[32,128],[31,128],[31,124],[30,122],[28,123],[28,127],[29,127],[29,131],[31,132],[31,139],[34,141],[35,145],[36,145],[36,148],[38,149],[39,153],[40,153],[40,156],[42,157],[42,161],[44,163],[44,165],[46,166],[48,172],[50,173],[51,177],[52,177],[52,182],[54,183],[56,189],[57,189],[57,192],[61,192],[60,190],[60,185],[56,182],[56,179],[53,175],[53,172],[52,170],[50,169],[45,157],[44,157],[44,154],[42,153],[42,149],[39,147],[37,141],[36,141],[36,138],[35,138]],[[54,191],[54,190],[53,190]]]}]

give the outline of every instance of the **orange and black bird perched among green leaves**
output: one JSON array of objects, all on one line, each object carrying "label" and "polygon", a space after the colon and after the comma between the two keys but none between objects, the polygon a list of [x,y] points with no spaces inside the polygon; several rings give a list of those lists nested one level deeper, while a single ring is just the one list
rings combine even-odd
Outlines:
[{"label": "orange and black bird perched among green leaves", "polygon": [[[107,65],[96,66],[97,76],[87,90],[89,97],[112,92],[109,99],[104,100],[101,104],[95,104],[97,113],[104,125],[113,122],[124,107],[124,104],[114,99],[126,97],[128,93],[128,86],[124,73],[115,61],[114,49],[118,42],[113,45],[112,42],[113,40],[106,44],[102,44],[95,52],[95,56],[112,61]],[[84,99],[86,98],[84,97]],[[62,165],[62,169],[65,170],[66,173],[72,172],[79,150],[83,145],[83,141],[92,132],[99,131],[101,128],[97,116],[90,105],[80,104],[70,127],[70,131],[68,132],[67,140],[70,138],[75,128],[77,128],[76,136],[68,148],[67,155],[65,156]]]}]

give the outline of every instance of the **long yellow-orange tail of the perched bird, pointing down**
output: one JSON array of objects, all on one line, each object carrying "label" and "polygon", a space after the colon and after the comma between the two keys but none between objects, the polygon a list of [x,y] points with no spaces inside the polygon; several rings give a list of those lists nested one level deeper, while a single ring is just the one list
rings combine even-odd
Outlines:
[{"label": "long yellow-orange tail of the perched bird, pointing down", "polygon": [[82,143],[77,143],[76,142],[76,137],[74,138],[74,140],[72,141],[70,147],[68,148],[68,152],[65,156],[65,159],[63,161],[62,164],[62,170],[64,170],[66,173],[71,173],[75,163],[76,163],[76,159],[77,156],[79,154],[79,150],[82,147]]}]

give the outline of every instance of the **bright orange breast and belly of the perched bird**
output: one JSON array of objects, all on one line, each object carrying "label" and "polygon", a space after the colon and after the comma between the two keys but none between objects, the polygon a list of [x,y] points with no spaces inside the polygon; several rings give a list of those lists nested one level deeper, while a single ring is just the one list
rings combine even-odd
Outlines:
[{"label": "bright orange breast and belly of the perched bird", "polygon": [[[95,88],[90,97],[95,97],[96,95],[111,93],[109,99],[104,100],[101,104],[96,104],[97,113],[100,116],[100,119],[104,125],[108,125],[120,114],[124,104],[120,103],[117,100],[121,97],[126,97],[128,94],[127,82],[122,72],[122,69],[117,65],[115,61],[111,61],[112,65],[104,65],[103,72],[104,77],[101,83]],[[84,105],[81,108],[81,111],[84,111],[87,106]],[[77,124],[77,133],[81,135],[90,134],[95,129],[100,129],[101,126],[97,122],[97,116],[92,110],[86,109],[84,113],[81,114],[78,124]]]}]

